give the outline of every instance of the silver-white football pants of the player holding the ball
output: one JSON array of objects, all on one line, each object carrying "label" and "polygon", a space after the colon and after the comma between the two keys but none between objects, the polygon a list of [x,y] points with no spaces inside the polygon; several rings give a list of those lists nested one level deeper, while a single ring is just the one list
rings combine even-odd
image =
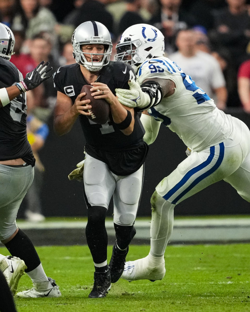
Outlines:
[{"label": "silver-white football pants of the player holding the ball", "polygon": [[83,181],[87,205],[102,206],[108,210],[113,195],[114,223],[133,225],[142,192],[143,165],[128,176],[112,173],[107,164],[85,154]]}]

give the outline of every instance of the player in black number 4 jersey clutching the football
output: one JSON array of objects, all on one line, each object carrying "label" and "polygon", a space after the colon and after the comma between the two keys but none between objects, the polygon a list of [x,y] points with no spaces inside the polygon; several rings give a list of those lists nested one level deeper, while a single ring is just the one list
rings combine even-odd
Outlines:
[{"label": "player in black number 4 jersey clutching the football", "polygon": [[[84,22],[72,37],[77,64],[62,66],[54,74],[58,90],[54,113],[54,130],[68,133],[78,116],[86,139],[83,171],[84,196],[88,207],[86,237],[95,272],[89,298],[106,296],[123,273],[128,245],[135,235],[133,227],[138,210],[143,163],[148,146],[143,142],[144,129],[137,112],[125,108],[115,97],[115,88],[129,89],[128,80],[135,79],[128,64],[110,62],[112,42],[108,29],[99,22]],[[95,124],[86,115],[90,100],[83,100],[82,86],[93,85],[96,98],[104,98],[110,106],[106,124]],[[87,106],[82,106],[82,105]],[[114,201],[114,228],[117,241],[111,261],[107,262],[108,236],[105,217],[110,199]]]}]

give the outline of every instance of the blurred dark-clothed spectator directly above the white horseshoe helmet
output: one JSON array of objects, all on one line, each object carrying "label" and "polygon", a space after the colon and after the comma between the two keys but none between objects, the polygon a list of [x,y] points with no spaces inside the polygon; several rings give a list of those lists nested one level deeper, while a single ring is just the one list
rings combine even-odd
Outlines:
[{"label": "blurred dark-clothed spectator directly above the white horseshoe helmet", "polygon": [[120,19],[118,26],[118,35],[122,34],[124,30],[134,24],[143,23],[142,16],[138,10],[142,7],[142,0],[126,0],[126,12]]}]

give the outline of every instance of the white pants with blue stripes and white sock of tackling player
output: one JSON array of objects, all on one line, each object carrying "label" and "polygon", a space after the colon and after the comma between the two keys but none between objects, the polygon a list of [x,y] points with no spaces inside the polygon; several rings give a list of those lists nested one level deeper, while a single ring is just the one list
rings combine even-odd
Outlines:
[{"label": "white pants with blue stripes and white sock of tackling player", "polygon": [[250,202],[250,131],[235,119],[231,136],[220,144],[192,151],[178,167],[156,187],[151,198],[151,248],[153,256],[162,256],[173,232],[176,204],[207,186],[224,180]]}]

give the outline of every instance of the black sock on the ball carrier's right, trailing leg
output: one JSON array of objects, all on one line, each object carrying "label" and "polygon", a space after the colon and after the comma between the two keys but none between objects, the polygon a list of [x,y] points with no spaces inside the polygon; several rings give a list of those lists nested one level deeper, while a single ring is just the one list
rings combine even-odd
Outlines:
[{"label": "black sock on the ball carrier's right, trailing leg", "polygon": [[123,226],[114,223],[115,228],[115,236],[117,239],[117,246],[120,249],[126,249],[130,242],[132,241],[133,237],[136,234],[136,229],[133,225],[130,226]]}]

